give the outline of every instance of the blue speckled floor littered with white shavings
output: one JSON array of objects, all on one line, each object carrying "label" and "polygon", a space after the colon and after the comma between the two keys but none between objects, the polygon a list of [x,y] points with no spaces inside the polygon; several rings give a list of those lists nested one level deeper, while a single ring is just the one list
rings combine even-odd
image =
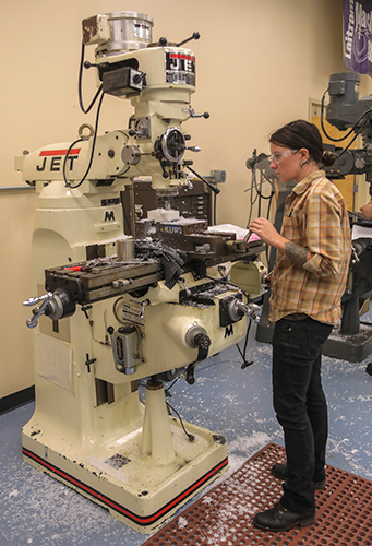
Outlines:
[{"label": "blue speckled floor littered with white shavings", "polygon": [[[224,476],[266,443],[283,446],[272,407],[271,352],[271,345],[254,340],[252,328],[252,366],[241,369],[233,346],[200,364],[194,385],[181,380],[171,390],[170,403],[185,420],[227,438],[230,468]],[[323,357],[323,383],[331,426],[327,462],[372,480],[370,360],[372,355],[357,364]],[[21,428],[33,410],[32,403],[0,416],[0,546],[143,544],[146,535],[22,461]]]}]

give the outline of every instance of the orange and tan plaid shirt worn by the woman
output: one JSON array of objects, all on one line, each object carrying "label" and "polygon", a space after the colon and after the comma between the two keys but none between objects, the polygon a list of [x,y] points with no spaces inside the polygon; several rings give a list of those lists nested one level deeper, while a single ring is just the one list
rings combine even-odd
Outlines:
[{"label": "orange and tan plaid shirt worn by the woman", "polygon": [[307,248],[312,257],[300,266],[277,251],[271,322],[297,312],[336,324],[341,316],[351,254],[350,225],[341,193],[324,175],[312,173],[286,200],[281,235]]}]

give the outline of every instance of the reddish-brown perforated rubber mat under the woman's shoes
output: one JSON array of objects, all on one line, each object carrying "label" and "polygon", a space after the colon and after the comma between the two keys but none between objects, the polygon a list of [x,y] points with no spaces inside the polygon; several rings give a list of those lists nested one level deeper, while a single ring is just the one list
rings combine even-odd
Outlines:
[{"label": "reddish-brown perforated rubber mat under the woman's shoes", "polygon": [[313,525],[275,533],[254,527],[253,515],[281,497],[281,482],[271,473],[277,461],[285,461],[285,450],[268,443],[143,546],[372,545],[372,482],[329,465]]}]

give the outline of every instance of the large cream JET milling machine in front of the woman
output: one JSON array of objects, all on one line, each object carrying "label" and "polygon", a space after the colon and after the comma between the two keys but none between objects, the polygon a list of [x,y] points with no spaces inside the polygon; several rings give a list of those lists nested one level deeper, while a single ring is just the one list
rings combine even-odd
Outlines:
[{"label": "large cream JET milling machine in front of the woman", "polygon": [[[195,57],[189,40],[152,43],[152,27],[134,12],[84,20],[80,83],[94,66],[98,91],[87,109],[80,102],[84,111],[97,104],[95,128],[16,158],[39,191],[35,297],[24,302],[36,407],[24,459],[143,533],[227,467],[225,438],[170,415],[164,382],[193,384],[199,361],[247,335],[265,274],[261,240],[170,207],[192,183],[185,152],[200,150],[181,127],[199,116]],[[83,63],[91,44],[95,63]],[[128,129],[98,135],[105,94],[129,98],[134,114]],[[142,177],[165,205],[124,234],[121,193]]]}]

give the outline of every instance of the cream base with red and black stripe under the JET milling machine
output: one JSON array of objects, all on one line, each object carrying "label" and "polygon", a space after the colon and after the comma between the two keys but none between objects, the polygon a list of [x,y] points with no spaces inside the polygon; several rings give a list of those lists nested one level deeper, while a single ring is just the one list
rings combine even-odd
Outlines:
[{"label": "cream base with red and black stripe under the JET milling machine", "polygon": [[[142,428],[91,453],[40,443],[25,426],[23,458],[37,470],[108,509],[140,533],[152,533],[228,467],[224,437],[170,418],[175,459],[158,465],[142,454]],[[43,436],[43,440],[47,439]],[[62,446],[61,446],[62,448]],[[73,454],[72,451],[75,451]]]}]

